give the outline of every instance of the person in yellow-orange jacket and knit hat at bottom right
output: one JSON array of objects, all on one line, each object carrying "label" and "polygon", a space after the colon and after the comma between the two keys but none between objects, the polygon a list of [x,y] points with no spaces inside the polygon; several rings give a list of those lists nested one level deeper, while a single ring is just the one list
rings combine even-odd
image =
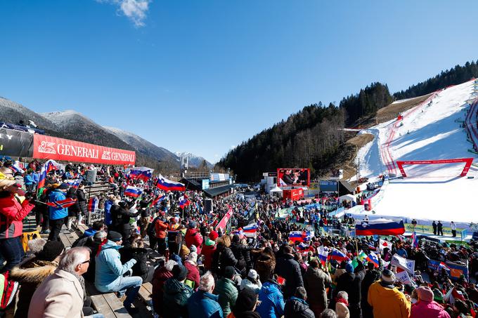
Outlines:
[{"label": "person in yellow-orange jacket and knit hat at bottom right", "polygon": [[411,303],[395,286],[395,274],[383,270],[380,281],[368,289],[368,303],[373,307],[373,317],[408,318]]}]

